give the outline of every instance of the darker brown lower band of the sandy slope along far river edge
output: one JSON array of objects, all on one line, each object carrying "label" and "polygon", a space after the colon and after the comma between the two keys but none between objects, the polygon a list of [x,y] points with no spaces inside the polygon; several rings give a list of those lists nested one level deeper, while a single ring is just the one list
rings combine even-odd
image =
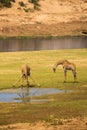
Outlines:
[{"label": "darker brown lower band of the sandy slope along far river edge", "polygon": [[87,36],[87,22],[71,22],[57,24],[28,24],[28,25],[12,25],[4,26],[0,32],[0,37],[50,37],[50,36]]}]

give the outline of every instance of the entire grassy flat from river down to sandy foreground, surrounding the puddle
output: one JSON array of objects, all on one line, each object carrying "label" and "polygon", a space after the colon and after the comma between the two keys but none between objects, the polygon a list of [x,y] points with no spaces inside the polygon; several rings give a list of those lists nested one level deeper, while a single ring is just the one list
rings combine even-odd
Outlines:
[{"label": "entire grassy flat from river down to sandy foreground, surrounding the puddle", "polygon": [[[64,73],[61,66],[53,73],[52,66],[61,59],[67,59],[77,66],[78,83],[73,82],[71,71],[67,75],[67,83],[63,83]],[[27,63],[31,67],[31,75],[40,87],[72,90],[67,93],[43,95],[38,98],[51,98],[45,103],[0,103],[0,125],[49,121],[55,118],[72,118],[87,116],[87,49],[6,52],[0,53],[0,89],[11,88],[21,75],[21,65]],[[30,84],[34,83],[30,80]],[[19,87],[18,83],[16,87]],[[34,86],[36,87],[36,86]]]}]

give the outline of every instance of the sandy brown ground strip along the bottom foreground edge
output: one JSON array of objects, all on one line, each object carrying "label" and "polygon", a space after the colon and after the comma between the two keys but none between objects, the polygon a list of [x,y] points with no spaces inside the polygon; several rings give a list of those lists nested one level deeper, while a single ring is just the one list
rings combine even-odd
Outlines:
[{"label": "sandy brown ground strip along the bottom foreground edge", "polygon": [[0,130],[87,130],[87,118],[55,119],[53,123],[17,123],[0,126]]}]

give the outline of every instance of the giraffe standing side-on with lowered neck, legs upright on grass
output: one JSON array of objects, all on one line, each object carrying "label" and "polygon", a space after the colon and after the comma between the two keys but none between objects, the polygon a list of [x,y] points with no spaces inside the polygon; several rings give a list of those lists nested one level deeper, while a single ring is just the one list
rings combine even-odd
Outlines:
[{"label": "giraffe standing side-on with lowered neck, legs upright on grass", "polygon": [[73,77],[74,77],[74,82],[76,82],[76,65],[74,63],[69,62],[68,60],[62,60],[58,61],[54,66],[53,66],[53,71],[56,72],[56,68],[62,65],[64,69],[64,82],[66,82],[66,77],[67,77],[67,70],[71,70]]}]

